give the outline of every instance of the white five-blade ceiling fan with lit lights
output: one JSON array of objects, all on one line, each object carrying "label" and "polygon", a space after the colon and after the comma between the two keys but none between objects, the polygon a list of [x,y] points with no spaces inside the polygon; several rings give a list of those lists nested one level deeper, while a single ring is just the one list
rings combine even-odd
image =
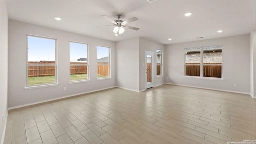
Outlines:
[{"label": "white five-blade ceiling fan with lit lights", "polygon": [[132,17],[128,20],[123,21],[123,20],[120,20],[120,17],[121,17],[120,14],[116,15],[118,20],[112,20],[110,17],[106,15],[102,15],[102,16],[104,16],[104,18],[106,18],[107,20],[113,23],[113,25],[107,25],[107,26],[114,26],[113,32],[115,33],[116,36],[119,36],[119,34],[122,34],[124,32],[124,28],[129,28],[131,30],[139,30],[139,28],[136,28],[133,26],[126,26],[126,24],[128,23],[138,20],[138,18],[136,17]]}]

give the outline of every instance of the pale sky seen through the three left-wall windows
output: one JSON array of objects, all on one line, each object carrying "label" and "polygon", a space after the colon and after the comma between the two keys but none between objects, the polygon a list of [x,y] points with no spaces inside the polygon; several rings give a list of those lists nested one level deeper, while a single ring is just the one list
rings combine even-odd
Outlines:
[{"label": "pale sky seen through the three left-wall windows", "polygon": [[[87,58],[87,44],[70,42],[70,60]],[[97,59],[107,57],[109,48],[97,46]],[[55,40],[28,36],[28,62],[55,61]]]}]

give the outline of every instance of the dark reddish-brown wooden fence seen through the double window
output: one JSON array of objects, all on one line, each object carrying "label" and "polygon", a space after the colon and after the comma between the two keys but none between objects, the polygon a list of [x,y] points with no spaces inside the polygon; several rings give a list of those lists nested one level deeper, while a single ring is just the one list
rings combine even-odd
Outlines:
[{"label": "dark reddish-brown wooden fence seen through the double window", "polygon": [[[199,63],[193,63],[199,64]],[[221,64],[221,63],[204,63],[204,64]],[[204,65],[203,76],[221,78],[221,65]],[[200,65],[186,65],[186,76],[200,76]]]}]

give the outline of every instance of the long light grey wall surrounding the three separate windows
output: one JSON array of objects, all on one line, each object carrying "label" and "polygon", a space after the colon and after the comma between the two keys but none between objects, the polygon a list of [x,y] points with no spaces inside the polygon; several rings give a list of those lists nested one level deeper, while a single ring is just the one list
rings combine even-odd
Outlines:
[{"label": "long light grey wall surrounding the three separate windows", "polygon": [[[58,86],[28,90],[24,89],[26,86],[26,34],[46,36],[57,39]],[[69,84],[70,40],[89,44],[90,82]],[[115,42],[9,20],[8,44],[8,107],[20,106],[42,100],[59,98],[62,96],[69,96],[116,86]],[[112,76],[110,79],[97,80],[97,45],[110,46]],[[67,90],[64,90],[64,87],[66,87]]]}]

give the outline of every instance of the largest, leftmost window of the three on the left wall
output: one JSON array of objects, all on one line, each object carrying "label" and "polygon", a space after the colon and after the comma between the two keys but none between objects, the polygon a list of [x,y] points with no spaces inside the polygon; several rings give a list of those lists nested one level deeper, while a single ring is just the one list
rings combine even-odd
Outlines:
[{"label": "largest, leftmost window of the three on the left wall", "polygon": [[27,35],[27,86],[56,84],[56,39]]}]

